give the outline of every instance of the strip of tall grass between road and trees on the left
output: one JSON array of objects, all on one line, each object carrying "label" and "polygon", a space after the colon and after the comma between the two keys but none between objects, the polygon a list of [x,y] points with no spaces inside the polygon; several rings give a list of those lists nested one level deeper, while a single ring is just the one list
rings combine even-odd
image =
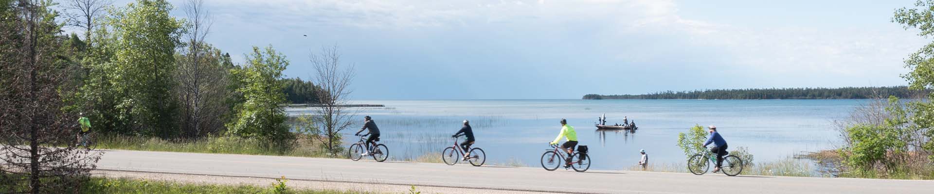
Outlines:
[{"label": "strip of tall grass between road and trees on the left", "polygon": [[[259,139],[235,136],[211,136],[197,140],[163,140],[155,137],[125,135],[102,135],[98,148],[129,149],[142,151],[170,151],[215,154],[246,154],[294,157],[328,157],[317,145],[306,139],[298,139],[293,147],[269,146]],[[343,157],[343,156],[338,156]]]}]

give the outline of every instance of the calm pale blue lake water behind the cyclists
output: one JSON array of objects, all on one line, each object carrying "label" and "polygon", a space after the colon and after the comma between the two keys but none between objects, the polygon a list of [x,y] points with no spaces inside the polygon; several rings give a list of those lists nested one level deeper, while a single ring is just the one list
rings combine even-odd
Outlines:
[{"label": "calm pale blue lake water behind the cyclists", "polygon": [[[567,118],[581,145],[590,147],[593,169],[628,169],[645,149],[651,162],[684,162],[675,146],[678,132],[700,124],[714,124],[730,149],[746,146],[757,162],[786,159],[801,151],[833,148],[839,141],[833,121],[846,118],[865,100],[469,100],[469,101],[357,101],[386,104],[362,108],[374,118],[389,146],[392,159],[417,158],[453,144],[450,135],[461,120],[471,120],[477,143],[487,151],[488,163],[518,160],[539,166],[547,143],[558,135],[560,118]],[[307,109],[290,109],[304,114]],[[601,114],[608,123],[635,120],[637,132],[598,132]],[[355,143],[352,137],[346,144]],[[562,139],[563,142],[563,139]]]}]

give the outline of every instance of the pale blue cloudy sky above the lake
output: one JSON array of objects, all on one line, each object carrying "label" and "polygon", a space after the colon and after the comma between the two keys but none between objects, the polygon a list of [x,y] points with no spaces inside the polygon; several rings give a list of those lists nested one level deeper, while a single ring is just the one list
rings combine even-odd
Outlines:
[{"label": "pale blue cloudy sky above the lake", "polygon": [[903,59],[930,42],[891,22],[913,3],[205,0],[206,41],[234,62],[271,45],[303,79],[309,55],[336,45],[353,99],[901,86]]}]

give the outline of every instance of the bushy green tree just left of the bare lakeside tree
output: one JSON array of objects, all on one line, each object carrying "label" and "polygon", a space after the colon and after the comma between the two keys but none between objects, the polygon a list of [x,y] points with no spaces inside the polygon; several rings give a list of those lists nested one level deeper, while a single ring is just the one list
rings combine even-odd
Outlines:
[{"label": "bushy green tree just left of the bare lakeside tree", "polygon": [[[282,53],[269,46],[264,49],[253,47],[242,69],[233,70],[233,75],[242,85],[236,91],[243,95],[243,104],[238,105],[237,118],[228,123],[228,132],[242,137],[259,137],[284,143],[294,138],[285,124],[288,117],[279,104],[286,103],[282,92],[282,71],[289,66]],[[285,146],[285,145],[278,145]]]}]

